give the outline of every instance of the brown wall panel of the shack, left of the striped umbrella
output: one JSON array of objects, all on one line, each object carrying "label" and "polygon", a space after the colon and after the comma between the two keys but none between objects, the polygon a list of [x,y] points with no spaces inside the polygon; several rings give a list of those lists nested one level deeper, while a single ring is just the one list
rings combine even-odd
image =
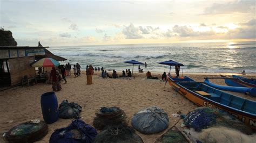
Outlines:
[{"label": "brown wall panel of the shack, left of the striped umbrella", "polygon": [[9,70],[11,77],[11,86],[22,82],[22,78],[26,75],[28,77],[35,77],[35,68],[30,66],[30,63],[35,61],[35,56],[26,56],[22,58],[9,59]]}]

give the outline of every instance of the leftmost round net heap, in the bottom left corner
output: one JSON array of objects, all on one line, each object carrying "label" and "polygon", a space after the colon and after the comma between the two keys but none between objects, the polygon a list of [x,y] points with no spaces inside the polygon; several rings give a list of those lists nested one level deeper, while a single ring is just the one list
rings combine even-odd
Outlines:
[{"label": "leftmost round net heap, in the bottom left corner", "polygon": [[34,142],[43,138],[48,133],[47,124],[39,119],[33,119],[19,124],[5,134],[9,142]]}]

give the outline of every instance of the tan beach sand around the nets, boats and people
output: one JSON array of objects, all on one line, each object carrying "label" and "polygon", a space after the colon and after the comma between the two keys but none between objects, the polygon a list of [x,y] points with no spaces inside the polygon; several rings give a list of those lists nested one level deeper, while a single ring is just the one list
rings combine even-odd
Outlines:
[{"label": "tan beach sand around the nets, boats and people", "polygon": [[[120,75],[120,73],[119,73]],[[95,112],[102,106],[118,106],[125,111],[129,125],[131,119],[138,110],[156,105],[163,108],[169,115],[169,128],[176,123],[179,118],[173,117],[173,113],[181,111],[187,113],[197,105],[188,101],[185,97],[174,91],[170,85],[159,80],[147,80],[146,73],[134,73],[135,78],[112,79],[101,78],[100,72],[93,75],[93,84],[86,85],[86,75],[74,78],[73,74],[67,77],[68,83],[63,84],[62,90],[56,92],[58,103],[64,99],[75,102],[82,106],[81,119],[85,123],[92,125]],[[161,77],[161,73],[152,74]],[[185,74],[184,74],[185,75]],[[186,74],[194,80],[204,81],[203,77],[219,77],[219,74]],[[256,77],[248,75],[247,77]],[[214,83],[223,84],[224,80],[211,80]],[[41,95],[52,91],[51,84],[37,83],[31,87],[16,87],[0,91],[0,133],[9,131],[11,127],[21,124],[31,119],[42,119]],[[232,92],[231,92],[232,93]],[[244,94],[232,93],[247,99],[256,101],[256,98]],[[38,142],[49,142],[53,131],[57,128],[66,127],[71,123],[71,119],[59,119],[53,124],[48,124],[48,134]],[[144,142],[154,142],[167,130],[156,134],[142,134],[136,131]],[[99,131],[98,131],[99,132]],[[0,138],[0,142],[4,142]]]}]

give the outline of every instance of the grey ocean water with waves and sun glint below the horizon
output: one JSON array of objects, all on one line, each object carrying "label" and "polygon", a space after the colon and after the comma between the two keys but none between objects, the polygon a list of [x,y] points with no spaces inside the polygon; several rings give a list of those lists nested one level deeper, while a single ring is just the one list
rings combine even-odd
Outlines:
[{"label": "grey ocean water with waves and sun glint below the horizon", "polygon": [[[123,61],[137,60],[147,63],[144,71],[169,72],[170,66],[158,62],[173,60],[183,63],[184,73],[256,73],[256,41],[252,42],[208,42],[173,44],[131,44],[97,46],[62,46],[48,48],[53,54],[62,56],[71,65],[79,63],[112,70],[132,69]],[[174,72],[174,67],[172,67]],[[134,65],[138,71],[138,65]]]}]

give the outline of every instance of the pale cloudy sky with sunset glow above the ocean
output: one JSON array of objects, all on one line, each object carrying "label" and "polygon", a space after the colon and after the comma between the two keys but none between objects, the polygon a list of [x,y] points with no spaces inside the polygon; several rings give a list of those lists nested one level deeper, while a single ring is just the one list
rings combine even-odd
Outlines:
[{"label": "pale cloudy sky with sunset glow above the ocean", "polygon": [[18,46],[256,41],[256,1],[0,0]]}]

